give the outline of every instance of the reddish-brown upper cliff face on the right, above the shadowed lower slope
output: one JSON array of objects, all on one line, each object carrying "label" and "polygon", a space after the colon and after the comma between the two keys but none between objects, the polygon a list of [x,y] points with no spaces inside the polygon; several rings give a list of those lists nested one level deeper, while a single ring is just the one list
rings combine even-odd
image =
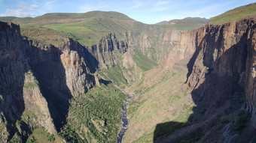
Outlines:
[{"label": "reddish-brown upper cliff face on the right, above the shadowed lower slope", "polygon": [[[224,25],[208,25],[197,46],[196,60],[188,75],[187,84],[201,86],[207,74],[216,77],[229,76],[245,89],[248,109],[254,106],[254,19],[229,22]],[[198,31],[201,34],[202,31]],[[204,33],[205,32],[205,33]],[[205,80],[203,78],[203,80]],[[250,100],[249,100],[250,99]]]}]

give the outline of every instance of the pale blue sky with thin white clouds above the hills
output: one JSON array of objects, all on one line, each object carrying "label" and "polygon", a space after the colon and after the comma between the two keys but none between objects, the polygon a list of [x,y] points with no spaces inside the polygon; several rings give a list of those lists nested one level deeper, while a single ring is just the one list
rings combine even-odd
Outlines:
[{"label": "pale blue sky with thin white clouds above the hills", "polygon": [[210,18],[256,0],[0,0],[0,16],[41,16],[44,13],[117,11],[154,24],[187,16]]}]

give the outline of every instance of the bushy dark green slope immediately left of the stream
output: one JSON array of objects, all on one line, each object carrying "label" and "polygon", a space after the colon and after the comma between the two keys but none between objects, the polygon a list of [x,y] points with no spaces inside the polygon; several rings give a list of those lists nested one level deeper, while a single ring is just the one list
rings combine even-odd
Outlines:
[{"label": "bushy dark green slope immediately left of the stream", "polygon": [[111,84],[75,97],[60,136],[67,142],[116,142],[125,99],[126,95]]}]

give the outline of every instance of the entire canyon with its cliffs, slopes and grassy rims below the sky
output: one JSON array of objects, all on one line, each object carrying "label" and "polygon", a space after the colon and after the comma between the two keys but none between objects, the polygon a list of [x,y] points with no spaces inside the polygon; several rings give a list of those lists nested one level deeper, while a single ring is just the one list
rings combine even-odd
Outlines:
[{"label": "entire canyon with its cliffs, slopes and grassy rims below the sky", "polygon": [[0,142],[117,142],[122,124],[121,142],[256,141],[255,15],[187,30],[67,14],[0,22]]}]

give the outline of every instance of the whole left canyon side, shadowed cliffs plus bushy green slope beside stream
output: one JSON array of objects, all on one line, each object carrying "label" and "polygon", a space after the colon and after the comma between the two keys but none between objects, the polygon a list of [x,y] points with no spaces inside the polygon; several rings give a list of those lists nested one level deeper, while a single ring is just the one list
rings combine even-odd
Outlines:
[{"label": "whole left canyon side, shadowed cliffs plus bushy green slope beside stream", "polygon": [[[27,40],[11,22],[1,22],[0,31],[1,142],[116,139],[126,95],[100,79],[95,73],[99,62],[86,47],[67,37],[57,46]],[[93,99],[85,109],[77,106]],[[114,108],[103,112],[111,114],[103,114],[109,105]]]}]

